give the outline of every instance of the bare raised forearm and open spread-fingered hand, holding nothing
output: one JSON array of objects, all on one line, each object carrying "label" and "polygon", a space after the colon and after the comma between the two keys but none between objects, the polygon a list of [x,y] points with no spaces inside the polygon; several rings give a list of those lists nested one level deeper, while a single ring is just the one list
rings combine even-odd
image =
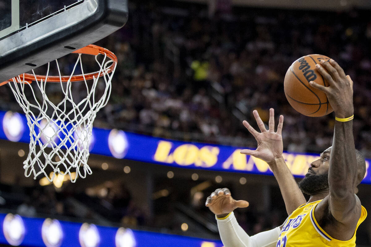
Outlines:
[{"label": "bare raised forearm and open spread-fingered hand, holding nothing", "polygon": [[306,203],[303,193],[298,187],[294,177],[282,157],[282,126],[283,116],[279,117],[277,132],[275,132],[274,110],[269,110],[269,130],[266,130],[258,112],[253,111],[256,123],[261,133],[257,132],[247,121],[243,125],[255,137],[257,141],[256,150],[244,149],[241,153],[260,158],[269,164],[280,187],[283,200],[285,201],[287,214],[290,215],[296,208]]}]

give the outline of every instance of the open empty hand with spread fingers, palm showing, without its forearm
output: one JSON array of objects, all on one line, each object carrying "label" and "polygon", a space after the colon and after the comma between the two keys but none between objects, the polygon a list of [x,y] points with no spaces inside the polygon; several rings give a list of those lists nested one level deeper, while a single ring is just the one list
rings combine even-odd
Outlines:
[{"label": "open empty hand with spread fingers, palm showing, without its forearm", "polygon": [[280,115],[275,132],[275,111],[269,109],[269,130],[264,126],[262,119],[260,119],[257,110],[253,111],[257,125],[259,126],[261,133],[257,132],[247,121],[243,121],[243,125],[249,130],[249,132],[255,137],[257,141],[256,150],[243,149],[240,153],[252,155],[256,158],[260,158],[265,162],[272,162],[275,158],[282,157],[283,143],[282,143],[282,126],[283,116]]}]

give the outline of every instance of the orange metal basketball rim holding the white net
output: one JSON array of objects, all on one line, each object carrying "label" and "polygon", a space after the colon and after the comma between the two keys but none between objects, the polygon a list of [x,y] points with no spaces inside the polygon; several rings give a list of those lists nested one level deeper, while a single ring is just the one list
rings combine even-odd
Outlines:
[{"label": "orange metal basketball rim holding the white net", "polygon": [[[112,53],[111,51],[103,47],[96,46],[93,44],[89,44],[88,46],[85,46],[79,50],[73,51],[72,53],[82,53],[82,54],[88,54],[88,55],[93,55],[93,56],[96,56],[98,54],[103,54],[103,55],[106,54],[106,56],[112,60],[112,64],[106,69],[106,73],[111,73],[117,64],[117,57],[114,53]],[[43,81],[47,79],[47,82],[60,82],[60,81],[67,82],[69,80],[70,81],[83,81],[84,79],[91,80],[94,77],[95,78],[98,77],[98,74],[99,74],[99,71],[87,73],[87,74],[79,74],[77,76],[48,76],[47,78],[46,76],[33,75],[33,74],[27,74],[27,73],[20,74],[19,76],[21,80],[27,81],[28,83],[30,83],[31,81],[36,81],[35,79],[43,80]],[[104,76],[104,73],[101,73],[99,75],[99,77],[101,76]],[[4,81],[3,83],[0,83],[0,86],[6,83],[7,82]]]}]

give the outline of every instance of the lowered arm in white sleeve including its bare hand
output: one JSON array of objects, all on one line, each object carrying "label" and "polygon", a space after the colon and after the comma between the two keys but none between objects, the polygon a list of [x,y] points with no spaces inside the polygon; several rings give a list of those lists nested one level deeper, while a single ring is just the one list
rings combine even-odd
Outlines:
[{"label": "lowered arm in white sleeve including its bare hand", "polygon": [[224,247],[275,247],[281,227],[249,236],[237,223],[233,210],[247,207],[244,200],[236,201],[229,189],[217,189],[206,199],[206,206],[215,214]]}]

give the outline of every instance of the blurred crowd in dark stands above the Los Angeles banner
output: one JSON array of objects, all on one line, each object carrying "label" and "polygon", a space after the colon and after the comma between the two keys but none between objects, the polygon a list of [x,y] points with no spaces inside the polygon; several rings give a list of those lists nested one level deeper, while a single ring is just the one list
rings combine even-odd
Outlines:
[{"label": "blurred crowd in dark stands above the Los Angeles banner", "polygon": [[[333,114],[297,113],[285,98],[283,79],[299,57],[324,54],[354,81],[355,144],[371,157],[367,11],[221,10],[210,16],[205,5],[130,2],[128,23],[97,43],[113,51],[119,63],[110,101],[95,126],[253,147],[255,140],[241,122],[255,126],[254,109],[267,122],[273,107],[276,117],[285,116],[286,150],[321,152],[332,144]],[[75,61],[64,63],[69,74]],[[14,102],[9,89],[0,87],[0,94],[1,107]]]}]

